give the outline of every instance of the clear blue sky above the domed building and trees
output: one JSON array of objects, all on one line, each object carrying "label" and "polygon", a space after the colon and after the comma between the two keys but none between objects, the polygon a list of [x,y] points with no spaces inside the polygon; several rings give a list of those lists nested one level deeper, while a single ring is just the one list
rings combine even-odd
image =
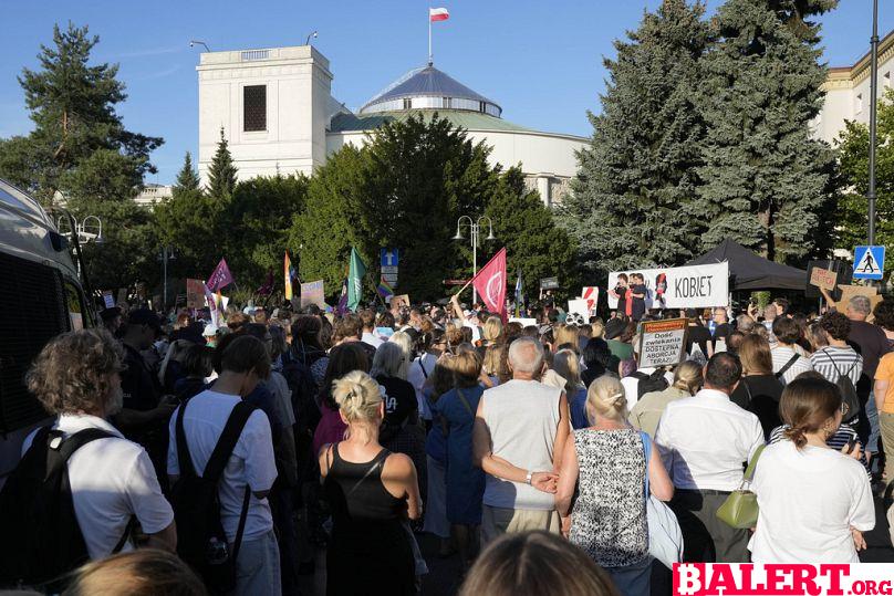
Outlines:
[{"label": "clear blue sky above the domed building and trees", "polygon": [[[603,55],[612,40],[634,29],[643,9],[659,0],[41,0],[2,2],[0,36],[0,137],[25,134],[30,121],[15,76],[37,65],[54,22],[87,24],[100,35],[97,61],[121,64],[128,100],[119,106],[128,128],[162,136],[153,155],[168,184],[195,155],[198,51],[300,45],[313,30],[314,45],[331,61],[333,95],[357,108],[427,54],[427,7],[443,6],[450,20],[434,23],[435,64],[491,97],[503,117],[524,126],[578,135],[591,132],[586,109],[599,111]],[[713,12],[720,2],[710,0]],[[894,7],[880,2],[880,32],[894,29]],[[886,6],[885,6],[886,4]],[[871,0],[841,0],[822,19],[825,60],[853,63],[869,49]]]}]

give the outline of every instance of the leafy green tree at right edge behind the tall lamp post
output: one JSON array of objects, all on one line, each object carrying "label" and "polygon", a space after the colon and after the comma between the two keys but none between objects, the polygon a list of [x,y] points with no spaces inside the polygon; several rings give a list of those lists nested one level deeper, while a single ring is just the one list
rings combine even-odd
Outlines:
[{"label": "leafy green tree at right edge behind the tall lamp post", "polygon": [[[879,102],[875,161],[875,243],[894,244],[894,90]],[[835,245],[851,248],[866,242],[870,132],[865,124],[848,122],[838,142],[842,187],[839,197]]]}]

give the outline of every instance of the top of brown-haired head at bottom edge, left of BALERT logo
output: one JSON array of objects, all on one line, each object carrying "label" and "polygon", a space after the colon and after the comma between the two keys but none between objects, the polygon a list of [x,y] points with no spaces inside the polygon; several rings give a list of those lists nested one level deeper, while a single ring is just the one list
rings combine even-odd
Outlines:
[{"label": "top of brown-haired head at bottom edge, left of BALERT logo", "polygon": [[554,534],[523,532],[495,541],[472,566],[459,596],[617,596],[607,574]]}]

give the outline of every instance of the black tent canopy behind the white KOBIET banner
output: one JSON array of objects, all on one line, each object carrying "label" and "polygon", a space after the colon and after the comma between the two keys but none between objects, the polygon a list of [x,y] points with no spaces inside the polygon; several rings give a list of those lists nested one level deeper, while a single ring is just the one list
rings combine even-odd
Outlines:
[{"label": "black tent canopy behind the white KOBIET banner", "polygon": [[736,290],[803,290],[807,271],[775,263],[759,257],[738,242],[726,239],[687,265],[729,263],[729,289]]}]

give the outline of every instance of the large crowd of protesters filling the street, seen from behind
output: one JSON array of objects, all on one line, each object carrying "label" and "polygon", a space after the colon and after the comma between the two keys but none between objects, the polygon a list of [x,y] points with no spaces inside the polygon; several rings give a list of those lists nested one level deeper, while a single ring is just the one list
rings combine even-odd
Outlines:
[{"label": "large crowd of protesters filling the street, seen from behind", "polygon": [[[28,374],[55,419],[23,462],[94,431],[63,460],[84,556],[52,571],[69,594],[291,595],[309,574],[329,594],[416,594],[428,533],[458,554],[461,594],[666,594],[649,500],[682,561],[857,562],[894,480],[894,303],[643,311],[623,282],[586,324],[456,296],[218,325],[107,309]],[[678,316],[684,362],[641,367],[637,322]],[[717,511],[749,463],[759,514],[734,527]]]}]

